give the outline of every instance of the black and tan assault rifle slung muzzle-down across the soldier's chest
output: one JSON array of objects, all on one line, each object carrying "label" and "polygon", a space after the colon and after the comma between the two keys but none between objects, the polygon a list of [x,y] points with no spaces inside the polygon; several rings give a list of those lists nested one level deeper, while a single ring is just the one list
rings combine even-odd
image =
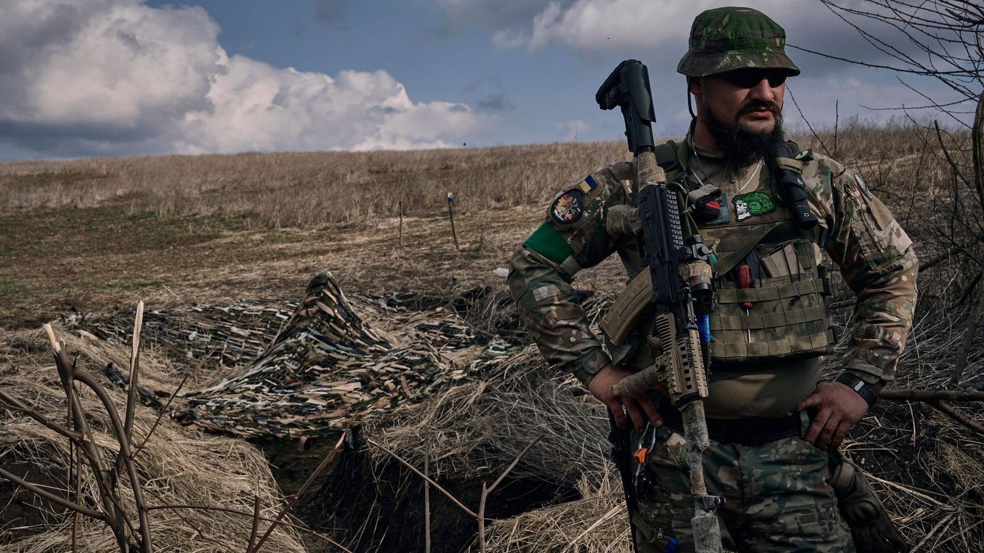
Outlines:
[{"label": "black and tan assault rifle slung muzzle-down across the soldier's chest", "polygon": [[[709,445],[704,398],[707,371],[698,332],[695,305],[712,303],[709,285],[695,285],[680,276],[686,263],[707,264],[709,250],[700,234],[684,236],[681,197],[666,185],[666,175],[656,163],[652,140],[652,92],[646,66],[626,60],[608,76],[595,94],[601,109],[620,107],[625,117],[629,150],[635,154],[639,184],[639,213],[643,223],[643,263],[652,282],[650,303],[654,313],[649,344],[662,355],[645,370],[612,387],[616,396],[639,398],[656,385],[666,388],[683,415],[687,440],[687,465],[694,496],[694,545],[698,553],[720,553],[721,536],[714,512],[724,500],[707,495],[703,453]],[[626,481],[623,479],[623,483]],[[626,490],[627,495],[629,490]]]}]

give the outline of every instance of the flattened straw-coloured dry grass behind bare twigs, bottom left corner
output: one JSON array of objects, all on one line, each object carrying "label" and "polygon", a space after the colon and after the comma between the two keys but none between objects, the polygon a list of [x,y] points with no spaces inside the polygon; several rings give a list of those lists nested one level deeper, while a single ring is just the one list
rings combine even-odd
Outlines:
[{"label": "flattened straw-coloured dry grass behind bare twigs, bottom left corner", "polygon": [[[105,344],[94,347],[86,338],[65,334],[63,337],[69,351],[82,354],[80,366],[97,370],[100,366],[95,363],[105,360],[124,360],[123,366],[126,366],[128,348]],[[51,364],[43,333],[0,333],[0,349],[6,359],[17,359],[21,365],[14,367],[9,361],[0,362],[0,387],[50,420],[63,420],[65,394]],[[174,386],[174,375],[166,363],[153,356],[145,356],[142,361],[142,374],[147,376],[148,383]],[[116,408],[123,412],[125,392],[113,386],[106,388]],[[108,416],[88,389],[80,390],[80,398],[90,415],[92,439],[102,452],[103,461],[112,460],[119,445],[110,429]],[[143,442],[156,419],[157,411],[138,405],[134,418],[135,443]],[[5,409],[0,414],[0,421],[0,461],[4,467],[21,475],[27,473],[29,481],[39,482],[57,495],[72,498],[74,478],[68,478],[72,459],[68,441],[30,417],[13,411]],[[283,505],[277,482],[258,448],[239,440],[189,431],[167,417],[154,430],[136,462],[148,505],[200,505],[251,513],[254,494],[258,494],[263,505],[262,516],[271,518],[277,516]],[[82,495],[77,502],[100,505],[92,474],[84,468],[82,475]],[[124,511],[136,513],[128,477],[121,474],[119,478]],[[71,544],[72,516],[27,492],[15,492],[5,480],[0,484],[11,493],[4,500],[7,507],[11,504],[31,506],[20,519],[11,517],[6,507],[0,510],[4,520],[14,524],[0,528],[0,552],[66,551],[66,544]],[[187,553],[245,550],[252,524],[250,517],[190,509],[154,510],[149,514],[149,522],[157,550]],[[266,522],[261,525],[262,528],[266,526]],[[85,517],[79,525],[79,543],[80,552],[118,550],[113,534],[105,524]],[[304,551],[298,533],[284,526],[275,530],[267,547],[271,552]]]}]

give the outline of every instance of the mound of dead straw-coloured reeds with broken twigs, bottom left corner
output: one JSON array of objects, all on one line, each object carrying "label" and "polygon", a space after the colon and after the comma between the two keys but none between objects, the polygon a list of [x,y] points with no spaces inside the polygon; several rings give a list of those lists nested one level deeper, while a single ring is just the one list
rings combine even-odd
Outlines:
[{"label": "mound of dead straw-coloured reeds with broken twigs, bottom left corner", "polygon": [[[40,333],[3,338],[8,344],[20,341],[38,349],[44,342]],[[91,353],[92,344],[86,338],[66,338],[55,341],[63,357],[60,367],[34,356],[39,364],[31,371],[0,377],[7,407],[0,425],[2,465],[18,478],[15,481],[48,496],[23,490],[12,495],[40,515],[26,513],[20,522],[5,517],[13,527],[5,529],[0,551],[65,551],[66,544],[93,552],[121,547],[216,553],[243,549],[254,505],[260,506],[260,518],[271,519],[283,503],[259,450],[245,442],[188,431],[140,404],[127,410],[124,393],[104,387],[69,359],[69,352]],[[118,351],[113,356],[127,354]],[[141,370],[153,373],[154,362]],[[80,384],[67,385],[62,378],[66,371]],[[63,427],[66,390],[72,388],[77,389],[69,396],[75,421]],[[129,413],[125,418],[131,421],[130,439],[119,413]],[[82,421],[86,424],[80,426]],[[73,427],[80,434],[73,434]],[[143,443],[146,438],[150,439]],[[132,451],[131,444],[142,447]],[[116,467],[113,460],[119,461]],[[102,470],[90,470],[90,465]],[[107,525],[113,531],[107,531]],[[298,531],[280,525],[265,551],[303,549]]]}]

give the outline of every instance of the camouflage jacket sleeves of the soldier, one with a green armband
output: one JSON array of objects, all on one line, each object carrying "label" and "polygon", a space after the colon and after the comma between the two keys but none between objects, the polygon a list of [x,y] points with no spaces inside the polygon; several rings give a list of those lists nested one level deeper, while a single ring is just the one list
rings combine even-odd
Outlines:
[{"label": "camouflage jacket sleeves of the soldier, one with a green armband", "polygon": [[[523,323],[544,358],[585,385],[612,361],[589,330],[571,281],[613,253],[635,276],[640,258],[636,236],[606,229],[608,210],[631,202],[613,168],[557,195],[546,220],[513,255],[508,276]],[[857,294],[856,325],[842,366],[881,390],[892,381],[915,307],[918,262],[911,240],[843,165],[815,154],[803,178],[826,228],[824,249]]]}]

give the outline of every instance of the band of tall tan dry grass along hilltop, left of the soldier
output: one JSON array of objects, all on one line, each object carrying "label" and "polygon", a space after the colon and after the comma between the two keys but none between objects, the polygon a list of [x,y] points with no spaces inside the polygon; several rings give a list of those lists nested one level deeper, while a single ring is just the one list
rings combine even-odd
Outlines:
[{"label": "band of tall tan dry grass along hilltop, left of the soldier", "polygon": [[564,184],[628,155],[617,143],[422,152],[92,158],[0,164],[0,213],[121,203],[130,213],[243,216],[258,225],[540,205]]}]

